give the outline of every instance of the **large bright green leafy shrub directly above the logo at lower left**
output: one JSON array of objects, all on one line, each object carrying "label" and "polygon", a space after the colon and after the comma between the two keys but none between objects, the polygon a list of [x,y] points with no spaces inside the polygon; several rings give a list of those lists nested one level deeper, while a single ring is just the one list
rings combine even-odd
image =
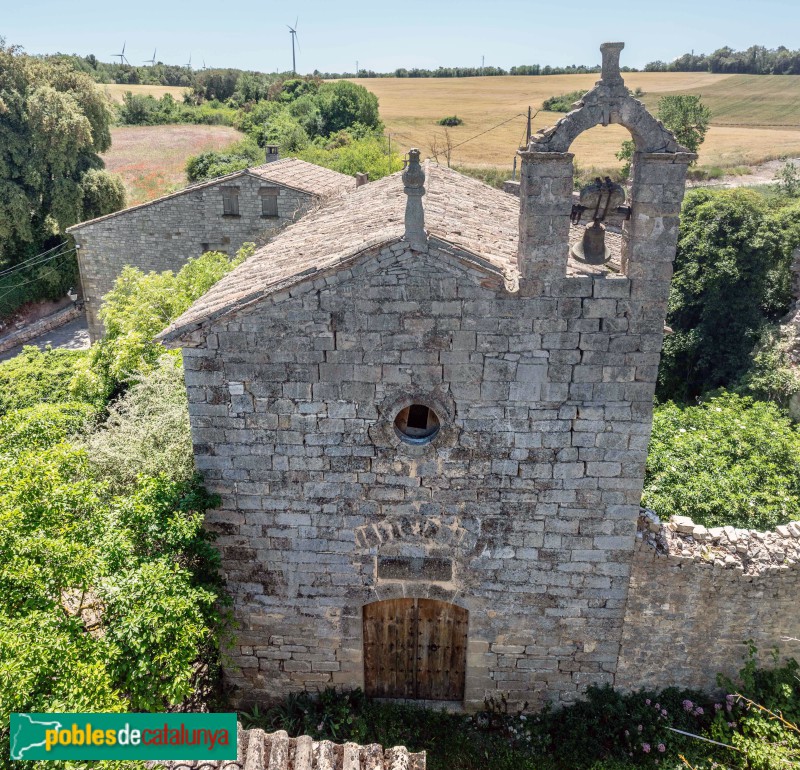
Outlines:
[{"label": "large bright green leafy shrub directly above the logo at lower left", "polygon": [[191,695],[220,634],[219,557],[202,527],[214,502],[164,478],[114,497],[65,443],[35,437],[2,456],[0,723],[11,710],[163,710]]}]

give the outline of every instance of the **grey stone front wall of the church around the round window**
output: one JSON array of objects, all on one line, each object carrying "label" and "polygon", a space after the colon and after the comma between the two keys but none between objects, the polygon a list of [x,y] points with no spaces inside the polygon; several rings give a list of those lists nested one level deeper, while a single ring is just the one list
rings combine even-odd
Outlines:
[{"label": "grey stone front wall of the church around the round window", "polygon": [[[363,686],[363,606],[402,596],[469,611],[467,707],[612,682],[662,325],[624,277],[526,297],[397,242],[198,332],[238,699]],[[425,446],[392,424],[415,401],[442,421]],[[422,568],[381,571],[397,558]]]}]

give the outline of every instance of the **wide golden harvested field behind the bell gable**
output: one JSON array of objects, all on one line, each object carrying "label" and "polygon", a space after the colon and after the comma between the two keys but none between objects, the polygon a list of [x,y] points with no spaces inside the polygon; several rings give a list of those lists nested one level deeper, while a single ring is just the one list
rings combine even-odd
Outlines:
[{"label": "wide golden harvested field behind the bell gable", "polygon": [[[631,89],[644,91],[642,100],[655,111],[666,94],[699,94],[712,111],[712,128],[700,151],[707,166],[751,165],[771,158],[800,154],[800,76],[712,75],[703,72],[624,73]],[[464,124],[448,129],[452,144],[509,122],[454,147],[451,162],[469,166],[510,168],[524,137],[528,105],[534,112],[550,96],[594,85],[598,75],[541,77],[385,78],[355,82],[378,96],[381,116],[393,142],[405,149],[442,144],[439,118],[457,115]],[[560,113],[539,112],[533,130],[552,125]],[[772,127],[774,126],[774,127]],[[596,128],[573,145],[576,162],[588,168],[619,165],[614,157],[628,132],[620,126]],[[441,159],[441,156],[440,156]]]}]

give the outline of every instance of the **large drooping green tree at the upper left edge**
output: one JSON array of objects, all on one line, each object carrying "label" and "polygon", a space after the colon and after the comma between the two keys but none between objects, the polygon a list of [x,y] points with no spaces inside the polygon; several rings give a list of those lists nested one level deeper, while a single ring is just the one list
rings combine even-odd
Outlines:
[{"label": "large drooping green tree at the upper left edge", "polygon": [[111,146],[92,78],[0,39],[0,258],[19,261],[80,220],[81,181]]}]

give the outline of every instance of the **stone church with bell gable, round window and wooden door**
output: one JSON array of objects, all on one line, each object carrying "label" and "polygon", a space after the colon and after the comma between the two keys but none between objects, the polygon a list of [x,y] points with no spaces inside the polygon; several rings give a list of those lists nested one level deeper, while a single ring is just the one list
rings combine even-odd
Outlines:
[{"label": "stone church with bell gable, round window and wooden door", "polygon": [[[622,47],[519,150],[519,200],[411,150],[162,333],[222,499],[240,702],[335,685],[535,707],[619,684],[695,157],[629,95]],[[610,123],[636,145],[627,208],[604,184],[574,208],[570,145]],[[627,219],[604,237],[609,205]]]}]

